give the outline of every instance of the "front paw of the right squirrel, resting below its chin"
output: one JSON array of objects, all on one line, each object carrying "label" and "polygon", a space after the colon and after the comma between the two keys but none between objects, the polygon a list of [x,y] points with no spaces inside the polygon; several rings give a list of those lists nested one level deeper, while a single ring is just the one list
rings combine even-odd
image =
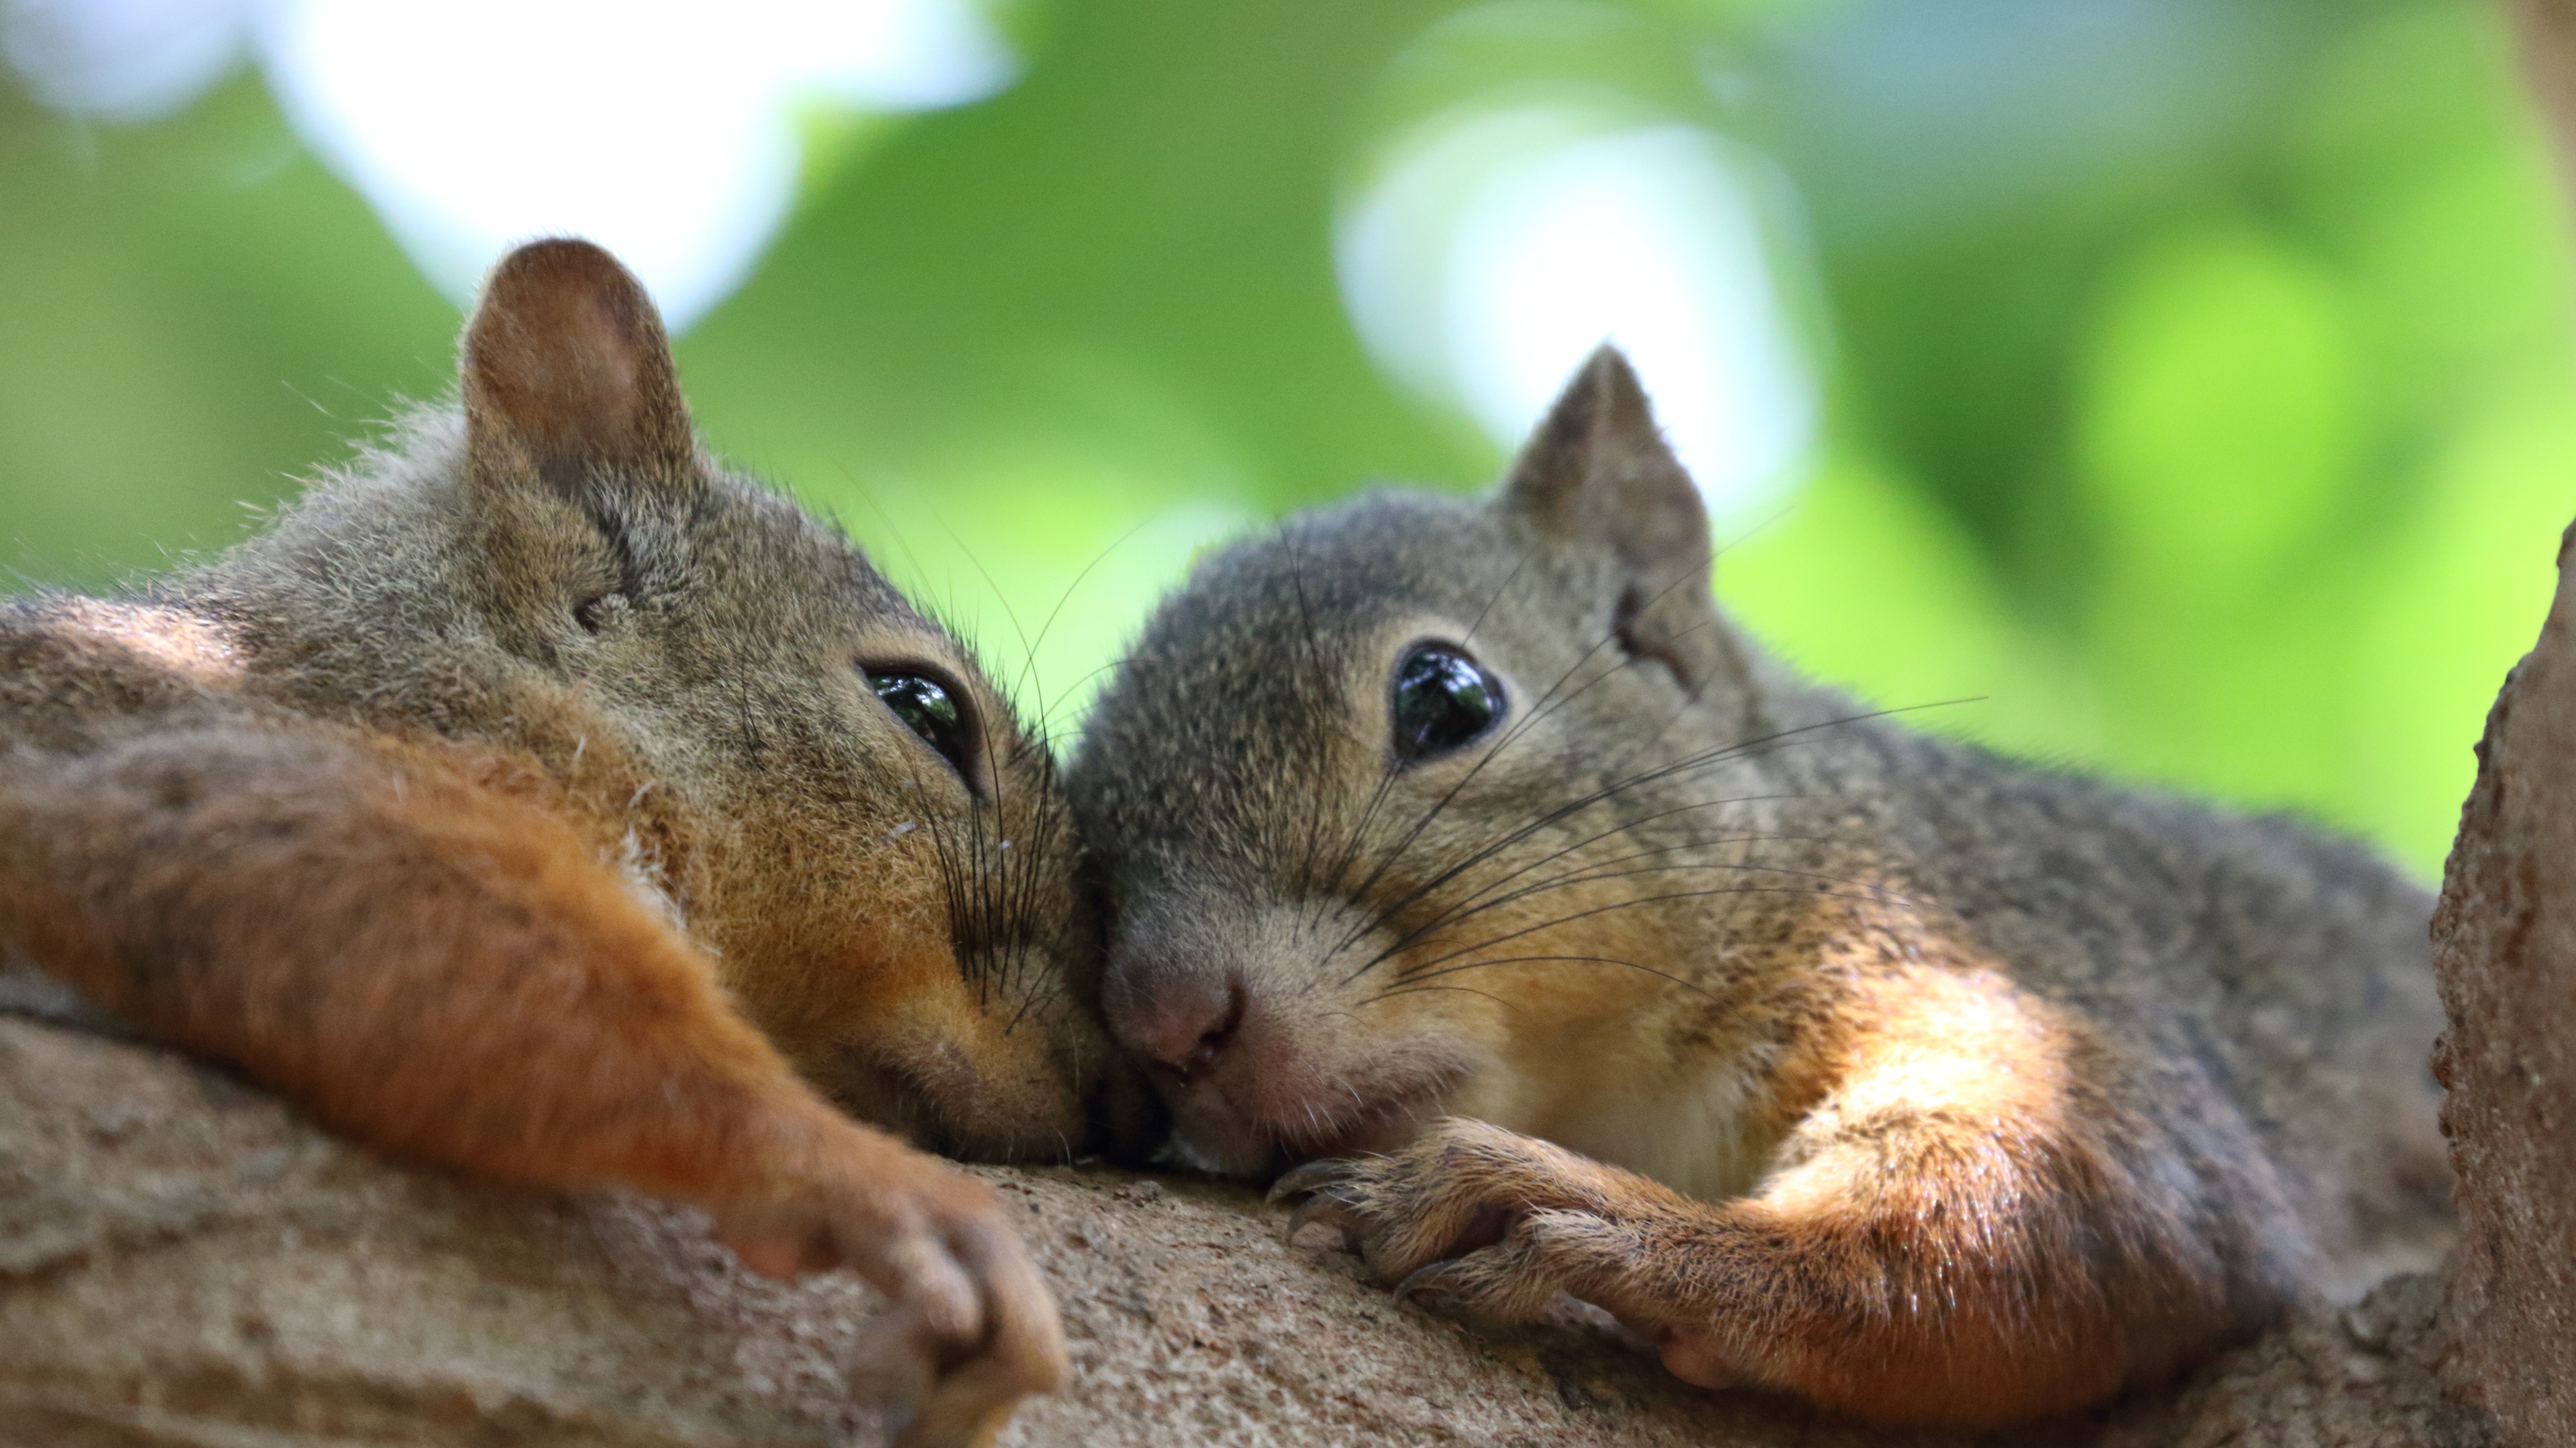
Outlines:
[{"label": "front paw of the right squirrel, resting below its chin", "polygon": [[1391,1157],[1309,1162],[1270,1188],[1296,1203],[1293,1239],[1329,1224],[1396,1296],[1432,1293],[1479,1317],[1530,1322],[1584,1296],[1613,1260],[1618,1172],[1484,1121],[1440,1121]]}]

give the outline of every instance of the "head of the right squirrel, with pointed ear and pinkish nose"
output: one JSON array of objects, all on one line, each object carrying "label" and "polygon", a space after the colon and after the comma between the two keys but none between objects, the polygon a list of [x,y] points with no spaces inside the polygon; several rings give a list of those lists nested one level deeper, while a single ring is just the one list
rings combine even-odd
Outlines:
[{"label": "head of the right squirrel, with pointed ear and pinkish nose", "polygon": [[1162,603],[1069,791],[1113,902],[1110,1031],[1185,1159],[1260,1175],[1440,1113],[1546,1129],[1605,1023],[1682,989],[1654,897],[1726,884],[1741,788],[1710,750],[1752,706],[1708,559],[1605,348],[1492,500],[1291,518]]}]

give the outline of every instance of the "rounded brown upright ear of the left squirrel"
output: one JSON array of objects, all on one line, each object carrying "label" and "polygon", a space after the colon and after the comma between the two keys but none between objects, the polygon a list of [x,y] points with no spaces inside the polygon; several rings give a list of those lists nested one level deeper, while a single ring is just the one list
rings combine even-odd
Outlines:
[{"label": "rounded brown upright ear of the left squirrel", "polygon": [[605,250],[518,247],[484,283],[464,343],[466,456],[477,484],[536,477],[580,490],[696,479],[688,405],[652,296]]}]

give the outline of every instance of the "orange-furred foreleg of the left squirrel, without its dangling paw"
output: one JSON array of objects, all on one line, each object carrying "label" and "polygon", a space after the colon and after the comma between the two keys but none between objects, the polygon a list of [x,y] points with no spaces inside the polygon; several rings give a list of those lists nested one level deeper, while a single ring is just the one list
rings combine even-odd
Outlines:
[{"label": "orange-furred foreleg of the left squirrel, without its dangling paw", "polygon": [[0,876],[26,953],[335,1126],[726,1206],[742,1139],[817,1105],[562,817],[440,752],[209,729],[52,773]]}]

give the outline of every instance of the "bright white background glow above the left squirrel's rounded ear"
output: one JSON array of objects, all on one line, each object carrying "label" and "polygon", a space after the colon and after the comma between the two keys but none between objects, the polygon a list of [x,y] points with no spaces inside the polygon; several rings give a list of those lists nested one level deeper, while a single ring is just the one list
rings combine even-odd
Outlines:
[{"label": "bright white background glow above the left squirrel's rounded ear", "polygon": [[31,90],[149,119],[245,46],[296,134],[459,301],[513,245],[616,250],[685,327],[796,201],[799,111],[992,95],[974,0],[0,0]]}]

